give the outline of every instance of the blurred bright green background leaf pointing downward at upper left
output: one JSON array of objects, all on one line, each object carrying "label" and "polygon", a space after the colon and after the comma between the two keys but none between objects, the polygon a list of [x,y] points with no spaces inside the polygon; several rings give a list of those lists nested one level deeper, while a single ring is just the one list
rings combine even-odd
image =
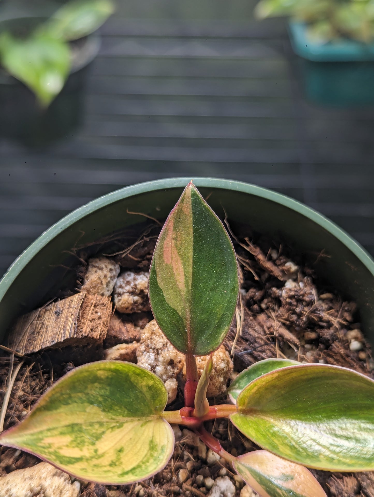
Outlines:
[{"label": "blurred bright green background leaf pointing downward at upper left", "polygon": [[46,34],[17,39],[2,33],[0,58],[4,69],[26,84],[44,106],[62,90],[71,65],[68,45]]}]

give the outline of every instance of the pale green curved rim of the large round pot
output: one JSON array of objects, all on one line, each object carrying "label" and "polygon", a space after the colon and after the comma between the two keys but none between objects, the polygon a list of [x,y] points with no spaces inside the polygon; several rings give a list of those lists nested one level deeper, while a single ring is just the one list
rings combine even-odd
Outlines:
[{"label": "pale green curved rim of the large round pot", "polygon": [[[67,214],[60,221],[52,225],[48,230],[42,233],[28,248],[26,248],[9,266],[5,274],[0,280],[0,301],[14,282],[18,274],[26,265],[33,259],[33,257],[45,247],[51,240],[58,234],[70,228],[76,221],[92,214],[93,212],[105,207],[108,204],[118,202],[124,198],[132,197],[149,191],[165,190],[166,188],[183,188],[189,183],[191,178],[178,177],[178,178],[164,178],[153,181],[146,181],[137,183],[135,185],[125,186],[119,190],[107,193],[101,197],[91,200],[87,204],[78,207],[70,214]],[[277,193],[273,190],[263,188],[254,184],[246,183],[244,181],[236,181],[224,178],[212,177],[196,177],[193,179],[197,187],[210,187],[223,190],[239,191],[248,193],[250,195],[258,196],[275,203],[288,207],[291,210],[298,212],[311,221],[324,228],[331,233],[341,243],[343,243],[356,257],[365,265],[365,267],[374,276],[374,260],[371,255],[361,245],[354,240],[348,233],[339,228],[335,223],[324,217],[319,212],[306,206],[305,204],[294,200],[293,198]]]}]

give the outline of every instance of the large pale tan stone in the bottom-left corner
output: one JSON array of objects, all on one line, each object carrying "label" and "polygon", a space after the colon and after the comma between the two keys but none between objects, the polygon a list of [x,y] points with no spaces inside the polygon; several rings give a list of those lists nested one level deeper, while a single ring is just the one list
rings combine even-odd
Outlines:
[{"label": "large pale tan stone in the bottom-left corner", "polygon": [[48,463],[18,469],[0,477],[1,497],[78,497],[79,482]]}]

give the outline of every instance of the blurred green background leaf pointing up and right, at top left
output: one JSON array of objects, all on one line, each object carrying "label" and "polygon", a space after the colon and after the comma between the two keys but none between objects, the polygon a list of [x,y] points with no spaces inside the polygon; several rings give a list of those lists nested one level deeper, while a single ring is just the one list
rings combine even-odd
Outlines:
[{"label": "blurred green background leaf pointing up and right, at top left", "polygon": [[41,31],[62,40],[76,40],[96,31],[114,12],[111,0],[71,1],[43,24]]}]

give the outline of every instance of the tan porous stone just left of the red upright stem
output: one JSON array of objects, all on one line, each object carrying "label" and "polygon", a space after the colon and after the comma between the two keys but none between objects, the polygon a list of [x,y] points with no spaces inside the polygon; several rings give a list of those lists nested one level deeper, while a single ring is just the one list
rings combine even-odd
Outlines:
[{"label": "tan porous stone just left of the red upright stem", "polygon": [[172,402],[177,395],[176,377],[183,368],[184,356],[171,345],[155,320],[150,321],[141,332],[137,358],[139,366],[161,378],[167,390],[168,403]]}]

